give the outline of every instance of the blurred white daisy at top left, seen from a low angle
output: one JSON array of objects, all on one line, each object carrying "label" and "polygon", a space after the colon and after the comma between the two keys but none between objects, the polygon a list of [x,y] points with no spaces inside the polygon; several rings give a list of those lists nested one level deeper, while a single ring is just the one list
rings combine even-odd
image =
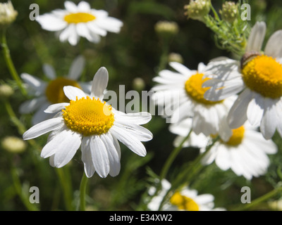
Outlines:
[{"label": "blurred white daisy at top left, seen from a low angle", "polygon": [[80,37],[97,43],[107,32],[118,33],[123,26],[121,20],[109,17],[104,10],[91,8],[86,1],[80,1],[78,6],[65,1],[64,6],[64,10],[39,15],[37,21],[44,30],[59,32],[60,41],[68,41],[73,46]]}]

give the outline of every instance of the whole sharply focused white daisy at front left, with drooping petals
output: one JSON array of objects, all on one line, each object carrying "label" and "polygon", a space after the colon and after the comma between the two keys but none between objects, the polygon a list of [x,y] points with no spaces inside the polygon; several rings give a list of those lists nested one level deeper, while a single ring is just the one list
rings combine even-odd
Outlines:
[{"label": "whole sharply focused white daisy at front left, with drooping petals", "polygon": [[23,139],[35,139],[51,131],[42,158],[49,158],[53,167],[63,167],[81,146],[85,174],[91,177],[118,175],[121,169],[121,149],[118,141],[140,156],[146,155],[141,141],[152,139],[152,133],[140,126],[151,120],[149,113],[122,113],[103,101],[108,84],[108,71],[100,68],[93,78],[88,96],[75,86],[64,86],[70,103],[50,105],[46,113],[57,113],[52,119],[31,127]]}]

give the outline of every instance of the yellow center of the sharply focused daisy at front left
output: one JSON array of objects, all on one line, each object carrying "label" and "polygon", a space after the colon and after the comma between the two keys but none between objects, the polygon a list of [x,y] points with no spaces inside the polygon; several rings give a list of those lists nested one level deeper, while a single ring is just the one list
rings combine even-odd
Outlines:
[{"label": "yellow center of the sharply focused daisy at front left", "polygon": [[84,136],[105,134],[114,125],[111,105],[95,98],[76,98],[63,110],[66,126]]}]

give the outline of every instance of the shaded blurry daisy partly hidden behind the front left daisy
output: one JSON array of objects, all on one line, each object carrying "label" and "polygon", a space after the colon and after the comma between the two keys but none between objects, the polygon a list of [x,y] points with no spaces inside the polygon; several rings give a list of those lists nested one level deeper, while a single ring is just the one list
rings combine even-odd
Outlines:
[{"label": "shaded blurry daisy partly hidden behind the front left daisy", "polygon": [[76,86],[90,93],[90,82],[78,82],[84,65],[85,59],[82,56],[78,56],[73,60],[68,75],[57,77],[54,68],[51,65],[44,64],[43,72],[50,80],[49,82],[27,73],[21,74],[20,77],[25,82],[28,94],[33,98],[20,105],[20,113],[27,114],[35,112],[35,115],[32,117],[32,124],[37,124],[54,116],[54,114],[44,113],[44,110],[49,105],[68,101],[68,98],[63,93],[63,86]]}]

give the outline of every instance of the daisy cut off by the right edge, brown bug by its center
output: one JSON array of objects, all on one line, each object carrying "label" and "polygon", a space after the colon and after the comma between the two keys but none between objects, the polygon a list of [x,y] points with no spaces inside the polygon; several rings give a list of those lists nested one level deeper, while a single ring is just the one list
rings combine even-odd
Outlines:
[{"label": "daisy cut off by the right edge, brown bug by its center", "polygon": [[260,127],[265,139],[271,139],[276,129],[282,136],[282,30],[271,35],[262,52],[265,32],[264,22],[252,27],[240,62],[219,58],[207,65],[215,76],[204,83],[210,87],[204,98],[221,101],[239,94],[228,113],[230,127],[238,128],[248,120]]}]

